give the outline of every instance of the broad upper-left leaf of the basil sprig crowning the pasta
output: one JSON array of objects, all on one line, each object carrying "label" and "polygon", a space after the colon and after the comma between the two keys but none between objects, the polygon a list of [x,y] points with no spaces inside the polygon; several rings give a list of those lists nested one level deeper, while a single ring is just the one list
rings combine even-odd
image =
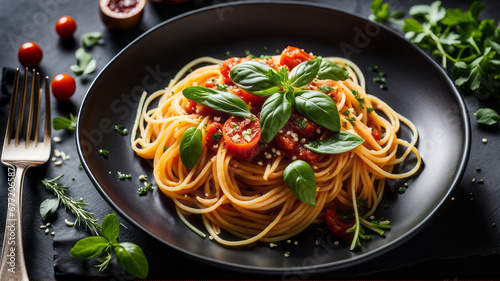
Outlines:
[{"label": "broad upper-left leaf of the basil sprig crowning the pasta", "polygon": [[[267,97],[279,90],[273,68],[256,61],[246,61],[231,68],[229,76],[234,84],[243,90],[259,97]],[[271,74],[272,73],[272,74]]]}]

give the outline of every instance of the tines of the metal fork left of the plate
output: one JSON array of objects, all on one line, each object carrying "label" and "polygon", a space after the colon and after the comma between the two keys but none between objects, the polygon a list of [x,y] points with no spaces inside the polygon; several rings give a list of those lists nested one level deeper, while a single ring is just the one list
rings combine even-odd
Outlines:
[{"label": "tines of the metal fork left of the plate", "polygon": [[[7,121],[7,128],[5,133],[5,144],[10,144],[11,140],[15,141],[15,145],[18,146],[23,139],[25,139],[25,146],[28,148],[30,146],[31,140],[34,141],[34,146],[36,147],[39,142],[39,126],[40,126],[40,116],[41,111],[41,100],[42,100],[42,89],[40,88],[40,74],[34,69],[32,71],[31,78],[31,90],[28,96],[28,68],[25,69],[24,78],[21,83],[21,90],[19,91],[19,80],[20,80],[20,70],[16,70],[14,76],[14,84],[12,88],[12,96],[10,98],[9,116]],[[44,131],[44,141],[47,138],[47,134],[50,138],[50,97],[49,97],[49,78],[45,78],[45,131]],[[19,95],[19,102],[18,102]],[[29,110],[25,112],[25,107],[27,102],[29,102]],[[16,118],[17,112],[17,118]],[[26,116],[27,115],[27,116]],[[26,119],[26,120],[25,120]],[[17,122],[16,122],[17,120]],[[14,124],[16,123],[16,124]],[[33,128],[34,123],[34,128]],[[14,129],[16,128],[16,129]],[[23,130],[25,129],[25,130]]]}]

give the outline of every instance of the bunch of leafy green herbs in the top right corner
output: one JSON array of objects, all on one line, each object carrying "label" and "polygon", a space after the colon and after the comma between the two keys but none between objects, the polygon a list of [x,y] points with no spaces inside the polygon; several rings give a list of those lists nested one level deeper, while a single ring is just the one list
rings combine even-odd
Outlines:
[{"label": "bunch of leafy green herbs in the top right corner", "polygon": [[485,8],[474,1],[466,11],[446,9],[440,1],[410,8],[404,21],[405,37],[453,63],[451,79],[462,90],[500,98],[500,26],[494,19],[478,20]]}]

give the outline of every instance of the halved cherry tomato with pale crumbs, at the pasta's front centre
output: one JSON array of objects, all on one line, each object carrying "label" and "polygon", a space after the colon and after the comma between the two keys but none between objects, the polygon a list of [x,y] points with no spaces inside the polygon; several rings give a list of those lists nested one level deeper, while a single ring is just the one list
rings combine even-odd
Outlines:
[{"label": "halved cherry tomato with pale crumbs, at the pasta's front centre", "polygon": [[245,153],[257,146],[260,140],[259,119],[231,116],[222,130],[228,148],[236,153]]}]

